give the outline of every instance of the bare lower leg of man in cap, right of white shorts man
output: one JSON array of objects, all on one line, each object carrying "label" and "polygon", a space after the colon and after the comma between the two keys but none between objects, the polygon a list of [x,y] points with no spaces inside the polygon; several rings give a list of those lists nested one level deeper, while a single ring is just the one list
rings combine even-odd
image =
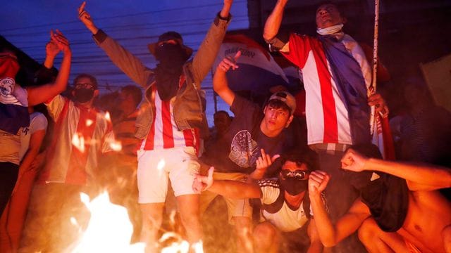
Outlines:
[{"label": "bare lower leg of man in cap, right of white shorts man", "polygon": [[234,216],[232,219],[237,235],[237,252],[253,252],[251,219],[243,216]]}]

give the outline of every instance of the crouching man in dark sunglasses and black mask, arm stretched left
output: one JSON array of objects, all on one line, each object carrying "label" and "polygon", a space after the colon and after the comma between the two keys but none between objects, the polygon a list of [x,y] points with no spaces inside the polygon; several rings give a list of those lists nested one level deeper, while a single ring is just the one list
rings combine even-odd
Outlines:
[{"label": "crouching man in dark sunglasses and black mask, arm stretched left", "polygon": [[[283,241],[299,240],[299,229],[307,224],[310,215],[307,182],[309,174],[316,169],[316,154],[292,152],[282,155],[277,179],[261,179],[255,182],[214,180],[213,167],[208,176],[196,176],[194,190],[223,195],[237,200],[259,198],[261,202],[260,223],[251,229],[254,252],[279,252]],[[257,166],[257,169],[266,167]],[[321,241],[315,223],[307,228],[310,245],[307,252],[322,252]],[[252,250],[251,250],[252,252]]]}]

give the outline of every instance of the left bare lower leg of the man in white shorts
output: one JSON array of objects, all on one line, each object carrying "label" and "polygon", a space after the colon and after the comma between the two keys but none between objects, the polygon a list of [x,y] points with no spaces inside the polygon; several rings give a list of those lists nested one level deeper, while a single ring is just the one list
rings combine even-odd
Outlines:
[{"label": "left bare lower leg of the man in white shorts", "polygon": [[157,236],[163,219],[164,203],[141,204],[142,229],[140,241],[146,243],[146,252],[156,252]]}]

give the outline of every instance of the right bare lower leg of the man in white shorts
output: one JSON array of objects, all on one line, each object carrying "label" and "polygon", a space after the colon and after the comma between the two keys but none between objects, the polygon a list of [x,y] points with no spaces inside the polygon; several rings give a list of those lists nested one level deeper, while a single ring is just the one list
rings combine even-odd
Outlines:
[{"label": "right bare lower leg of the man in white shorts", "polygon": [[176,198],[180,218],[185,227],[188,242],[192,245],[201,241],[202,225],[199,219],[199,195],[180,195]]}]

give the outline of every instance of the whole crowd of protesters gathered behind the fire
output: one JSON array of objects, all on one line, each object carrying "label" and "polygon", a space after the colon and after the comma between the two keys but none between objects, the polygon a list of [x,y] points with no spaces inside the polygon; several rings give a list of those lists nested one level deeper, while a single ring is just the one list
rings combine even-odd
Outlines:
[{"label": "whole crowd of protesters gathered behind the fire", "polygon": [[[89,222],[80,193],[102,190],[128,210],[130,242],[144,242],[146,252],[161,249],[172,202],[193,252],[219,236],[205,235],[201,219],[218,195],[227,215],[218,226],[234,228],[235,252],[451,252],[450,112],[421,85],[407,85],[409,112],[390,115],[398,160],[383,160],[369,122],[371,107],[382,118],[389,110],[368,92],[371,50],[343,32],[347,20],[330,2],[316,10],[316,37],[280,32],[287,2],[277,1],[263,37],[302,72],[305,114],[295,114],[288,91],[257,104],[230,89],[237,51],[214,72],[214,91],[233,117],[216,112],[213,131],[201,84],[233,0],[223,1],[194,56],[178,32],[149,44],[154,69],[99,29],[83,2],[78,17],[95,44],[141,86],[104,96],[95,72],[68,87],[72,51],[58,30],[26,88],[16,83],[15,53],[2,48],[0,252],[70,251]],[[390,79],[382,64],[377,73]]]}]

